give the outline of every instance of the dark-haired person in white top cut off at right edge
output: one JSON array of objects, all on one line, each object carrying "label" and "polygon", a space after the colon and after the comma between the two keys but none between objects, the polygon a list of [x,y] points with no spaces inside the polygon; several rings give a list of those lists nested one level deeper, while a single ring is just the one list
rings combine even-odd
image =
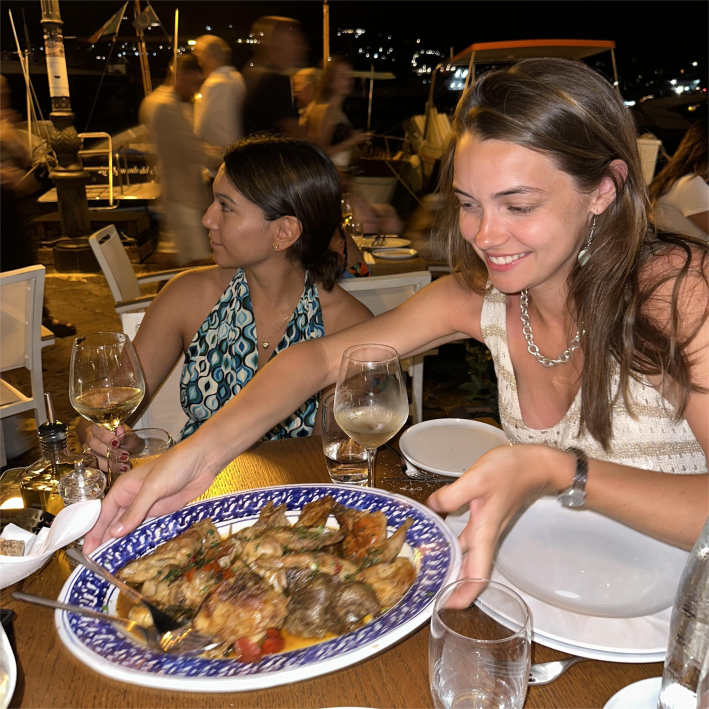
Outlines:
[{"label": "dark-haired person in white top cut off at right edge", "polygon": [[677,152],[650,185],[661,231],[709,239],[709,118],[689,127]]}]

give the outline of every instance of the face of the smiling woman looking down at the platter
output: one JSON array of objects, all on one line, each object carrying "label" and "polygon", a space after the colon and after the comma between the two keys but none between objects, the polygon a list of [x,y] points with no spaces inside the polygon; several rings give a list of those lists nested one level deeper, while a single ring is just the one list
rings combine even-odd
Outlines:
[{"label": "face of the smiling woman looking down at the platter", "polygon": [[594,195],[542,153],[469,134],[454,169],[460,232],[492,284],[518,293],[563,283],[588,234]]}]

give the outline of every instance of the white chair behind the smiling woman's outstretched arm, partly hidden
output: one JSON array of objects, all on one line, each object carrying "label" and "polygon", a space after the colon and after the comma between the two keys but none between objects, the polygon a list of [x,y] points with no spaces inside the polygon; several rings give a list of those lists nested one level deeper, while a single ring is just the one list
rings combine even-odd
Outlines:
[{"label": "white chair behind the smiling woman's outstretched arm, partly hidden", "polygon": [[[393,310],[431,282],[428,271],[397,273],[371,278],[343,278],[338,281],[350,295],[366,305],[374,315]],[[411,376],[411,417],[414,423],[423,421],[423,358],[437,350],[402,360],[401,368]]]}]

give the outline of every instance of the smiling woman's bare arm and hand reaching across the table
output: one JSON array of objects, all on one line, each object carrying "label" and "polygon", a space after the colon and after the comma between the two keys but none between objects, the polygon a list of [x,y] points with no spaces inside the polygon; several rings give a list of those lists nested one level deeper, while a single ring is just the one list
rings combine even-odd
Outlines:
[{"label": "smiling woman's bare arm and hand reaching across the table", "polygon": [[148,515],[173,511],[202,494],[237,455],[336,381],[347,347],[376,342],[405,357],[455,339],[479,338],[481,307],[481,296],[444,278],[378,318],[281,352],[194,435],[118,479],[86,537],[87,551],[129,532]]}]

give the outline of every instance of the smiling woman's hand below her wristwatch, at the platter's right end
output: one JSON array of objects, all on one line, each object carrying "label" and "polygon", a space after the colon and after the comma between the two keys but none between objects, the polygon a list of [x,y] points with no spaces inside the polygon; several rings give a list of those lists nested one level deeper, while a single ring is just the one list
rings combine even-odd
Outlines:
[{"label": "smiling woman's hand below her wristwatch, at the platter's right end", "polygon": [[460,535],[465,554],[460,577],[489,579],[497,540],[517,510],[530,498],[569,487],[575,469],[574,456],[556,448],[500,446],[452,485],[434,492],[427,504],[436,512],[454,512],[465,504],[470,508]]}]

